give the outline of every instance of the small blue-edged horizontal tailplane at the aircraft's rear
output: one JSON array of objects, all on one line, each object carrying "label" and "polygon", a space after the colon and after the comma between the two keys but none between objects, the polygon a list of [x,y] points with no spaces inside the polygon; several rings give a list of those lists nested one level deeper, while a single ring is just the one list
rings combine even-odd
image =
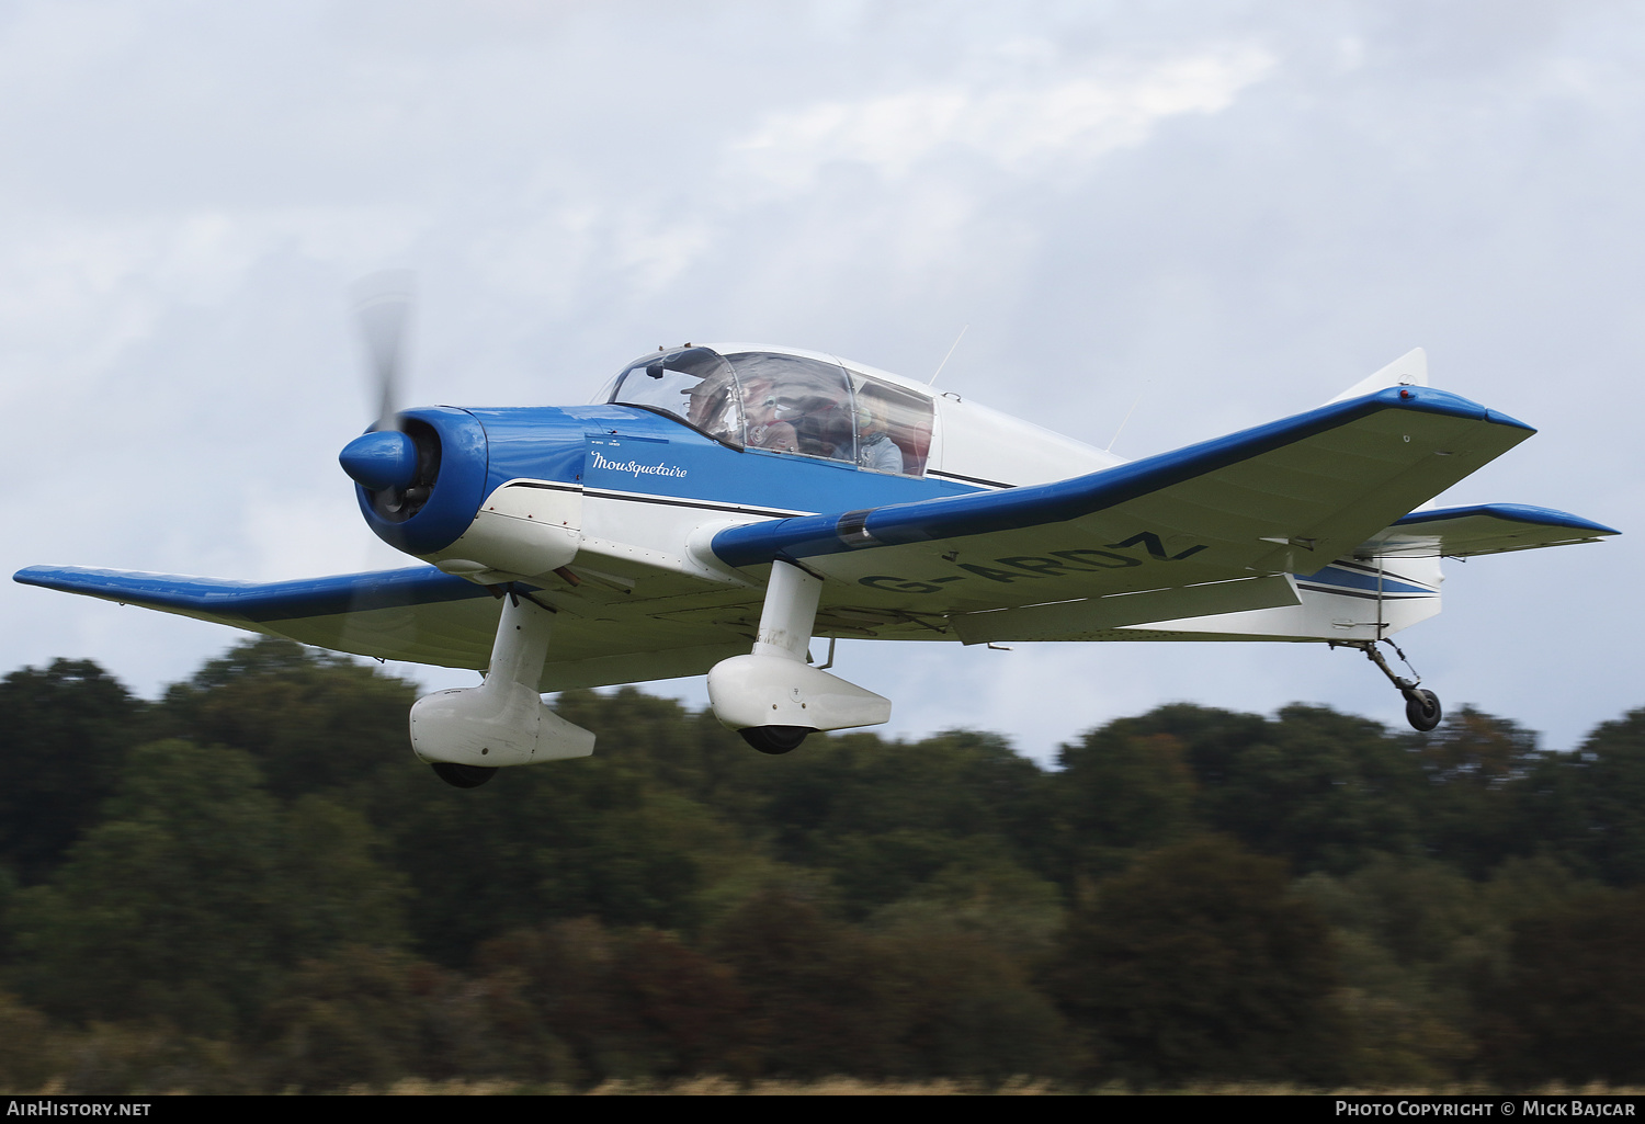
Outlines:
[{"label": "small blue-edged horizontal tailplane at the aircraft's rear", "polygon": [[1525,504],[1482,504],[1411,512],[1392,527],[1367,538],[1355,551],[1380,558],[1472,558],[1504,555],[1510,550],[1597,543],[1615,528]]}]

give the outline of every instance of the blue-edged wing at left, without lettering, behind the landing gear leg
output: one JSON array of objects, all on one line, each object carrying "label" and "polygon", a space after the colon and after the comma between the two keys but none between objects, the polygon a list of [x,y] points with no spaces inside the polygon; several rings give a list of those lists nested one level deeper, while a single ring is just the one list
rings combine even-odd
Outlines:
[{"label": "blue-edged wing at left, without lettering, behind the landing gear leg", "polygon": [[[490,658],[500,614],[487,588],[433,566],[271,583],[30,566],[18,571],[16,581],[336,652],[475,670]],[[607,611],[564,591],[543,592],[541,599],[561,602],[563,611],[554,627],[554,662],[543,668],[544,691],[701,675],[747,652],[752,640],[740,620],[717,620],[712,614],[670,620],[623,607]]]}]

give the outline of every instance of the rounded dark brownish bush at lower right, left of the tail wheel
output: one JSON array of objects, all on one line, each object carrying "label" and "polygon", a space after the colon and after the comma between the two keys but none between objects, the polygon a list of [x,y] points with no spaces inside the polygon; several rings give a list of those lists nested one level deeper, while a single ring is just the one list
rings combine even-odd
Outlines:
[{"label": "rounded dark brownish bush at lower right, left of the tail wheel", "polygon": [[1281,862],[1214,836],[1105,882],[1050,969],[1094,1071],[1145,1086],[1339,1078],[1334,941],[1288,890]]}]

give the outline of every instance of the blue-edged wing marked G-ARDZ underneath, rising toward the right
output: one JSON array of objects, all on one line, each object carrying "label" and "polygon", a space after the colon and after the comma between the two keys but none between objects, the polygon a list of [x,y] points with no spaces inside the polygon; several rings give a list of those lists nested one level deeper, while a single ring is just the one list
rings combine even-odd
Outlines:
[{"label": "blue-edged wing marked G-ARDZ underneath, rising toward the right", "polygon": [[859,604],[933,620],[1309,574],[1531,433],[1443,390],[1392,387],[1054,484],[734,527],[712,550],[744,568],[796,561],[855,586]]}]

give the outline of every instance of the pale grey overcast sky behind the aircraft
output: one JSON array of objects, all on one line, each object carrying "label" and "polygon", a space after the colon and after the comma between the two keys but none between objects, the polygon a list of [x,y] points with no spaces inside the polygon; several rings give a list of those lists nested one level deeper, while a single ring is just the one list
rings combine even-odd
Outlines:
[{"label": "pale grey overcast sky behind the aircraft", "polygon": [[[1555,749],[1645,706],[1645,3],[0,0],[0,568],[393,566],[337,449],[354,278],[410,397],[584,402],[658,344],[849,355],[1128,457],[1413,346],[1541,433],[1448,502],[1620,540],[1451,563],[1398,639]],[[0,671],[153,694],[237,634],[7,586]],[[408,673],[413,668],[405,668]],[[1165,701],[1400,724],[1314,645],[842,643],[893,734]],[[428,685],[472,673],[419,673]],[[699,703],[699,681],[656,690]]]}]

